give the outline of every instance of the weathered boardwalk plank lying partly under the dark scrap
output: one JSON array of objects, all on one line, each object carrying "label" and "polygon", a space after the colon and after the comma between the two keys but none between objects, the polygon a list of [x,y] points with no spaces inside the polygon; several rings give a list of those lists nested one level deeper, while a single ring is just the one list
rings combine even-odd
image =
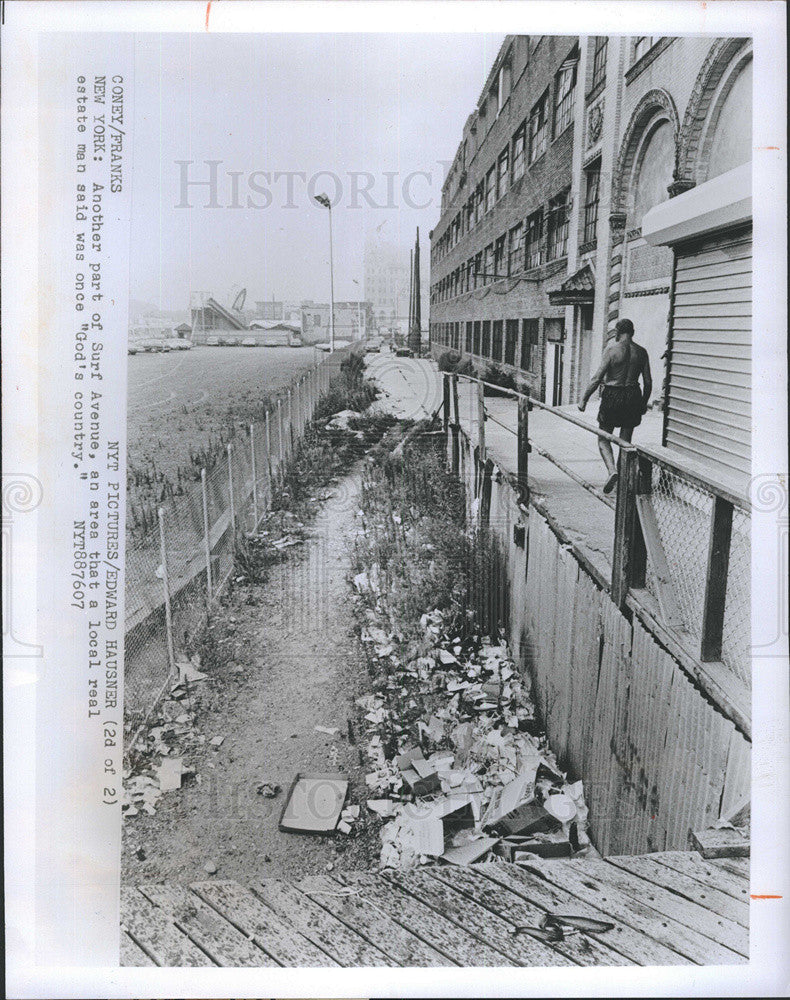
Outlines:
[{"label": "weathered boardwalk plank lying partly under the dark scrap", "polygon": [[[481,875],[475,865],[467,868],[432,867],[427,871],[432,878],[446,882],[456,892],[462,892],[468,899],[491,910],[511,924],[538,927],[547,915],[545,910]],[[528,934],[528,932],[522,933]],[[563,941],[552,942],[551,947],[577,965],[632,965],[633,963],[605,943],[606,937],[611,933],[608,931],[600,938],[586,933],[573,934]]]}]

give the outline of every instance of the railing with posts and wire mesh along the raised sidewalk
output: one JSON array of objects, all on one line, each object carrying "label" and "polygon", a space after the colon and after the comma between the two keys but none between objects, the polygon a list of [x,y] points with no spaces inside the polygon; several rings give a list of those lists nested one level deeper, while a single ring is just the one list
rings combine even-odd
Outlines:
[{"label": "railing with posts and wire mesh along the raised sidewalk", "polygon": [[[528,393],[471,375],[444,375],[445,430],[460,427],[458,380],[477,385],[477,455],[486,463],[486,422],[517,438],[516,488],[531,502],[532,453],[552,463],[600,503],[614,511],[609,592],[621,609],[649,605],[662,641],[674,643],[697,665],[709,665],[720,690],[723,674],[736,680],[739,713],[748,713],[751,663],[750,521],[748,497],[693,468],[664,448],[633,444]],[[514,421],[497,419],[485,390],[517,400]],[[474,401],[472,402],[474,406]],[[608,497],[567,462],[539,447],[530,434],[530,413],[544,410],[619,448],[617,491]],[[451,412],[452,411],[452,412]],[[501,416],[501,414],[500,414]],[[453,446],[453,461],[457,447]],[[644,601],[645,594],[650,600]],[[704,671],[705,672],[705,671]],[[726,678],[725,678],[726,680]]]}]

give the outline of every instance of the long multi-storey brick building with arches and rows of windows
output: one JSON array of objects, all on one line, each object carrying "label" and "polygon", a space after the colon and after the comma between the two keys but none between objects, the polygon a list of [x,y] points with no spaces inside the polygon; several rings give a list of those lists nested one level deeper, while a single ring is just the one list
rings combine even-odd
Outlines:
[{"label": "long multi-storey brick building with arches and rows of windows", "polygon": [[[509,36],[464,127],[431,233],[434,355],[455,348],[563,405],[579,399],[628,317],[650,355],[664,443],[723,462],[734,409],[738,459],[727,468],[745,468],[749,220],[736,225],[734,210],[718,229],[698,220],[680,242],[685,230],[659,218],[646,233],[643,222],[726,172],[740,169],[743,181],[751,59],[739,38]],[[721,200],[724,185],[717,190]],[[694,204],[709,200],[703,193]],[[704,292],[677,287],[695,240],[707,240],[707,263],[696,265],[712,282]],[[749,257],[735,272],[748,289],[745,278],[732,285],[733,255]]]}]

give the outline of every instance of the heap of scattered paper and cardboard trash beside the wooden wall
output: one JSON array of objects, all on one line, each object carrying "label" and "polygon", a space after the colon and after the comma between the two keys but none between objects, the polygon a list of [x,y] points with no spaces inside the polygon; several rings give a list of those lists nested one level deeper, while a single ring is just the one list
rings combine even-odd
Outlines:
[{"label": "heap of scattered paper and cardboard trash beside the wooden wall", "polygon": [[[356,580],[370,584],[370,573]],[[390,820],[382,867],[594,853],[582,782],[559,770],[507,644],[462,639],[439,610],[404,644],[383,613],[364,614],[381,680],[357,703],[373,764],[367,805]]]}]

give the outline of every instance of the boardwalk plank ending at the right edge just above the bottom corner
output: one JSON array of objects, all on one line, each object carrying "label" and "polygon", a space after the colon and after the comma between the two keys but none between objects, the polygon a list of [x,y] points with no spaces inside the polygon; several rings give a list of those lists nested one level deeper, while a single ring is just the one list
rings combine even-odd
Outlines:
[{"label": "boardwalk plank ending at the right edge just above the bottom corner", "polygon": [[[653,882],[634,877],[616,865],[609,864],[608,861],[570,861],[568,864],[577,867],[584,877],[592,875],[600,879],[604,885],[637,899],[675,923],[682,924],[708,938],[711,943],[715,942],[731,952],[738,952],[748,958],[749,932],[735,921],[721,917],[705,906],[684,899],[668,889],[662,889]],[[583,867],[580,867],[582,864]]]}]

